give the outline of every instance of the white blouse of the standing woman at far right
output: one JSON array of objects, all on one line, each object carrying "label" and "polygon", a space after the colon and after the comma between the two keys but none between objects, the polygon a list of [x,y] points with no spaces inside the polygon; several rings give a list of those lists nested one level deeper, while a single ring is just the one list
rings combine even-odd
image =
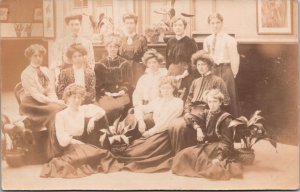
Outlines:
[{"label": "white blouse of the standing woman at far right", "polygon": [[232,36],[220,32],[216,35],[215,45],[213,43],[214,34],[204,39],[203,49],[210,53],[217,65],[220,63],[230,63],[233,75],[236,76],[240,65],[236,40]]}]

